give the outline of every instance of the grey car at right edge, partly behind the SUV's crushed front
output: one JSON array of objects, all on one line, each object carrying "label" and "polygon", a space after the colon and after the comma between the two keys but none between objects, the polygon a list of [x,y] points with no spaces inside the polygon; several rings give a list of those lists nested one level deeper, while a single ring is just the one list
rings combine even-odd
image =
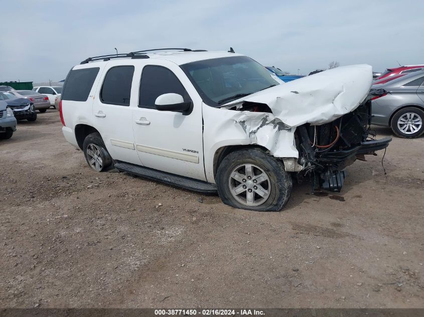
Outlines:
[{"label": "grey car at right edge, partly behind the SUV's crushed front", "polygon": [[415,72],[383,85],[373,85],[372,124],[391,127],[401,138],[424,133],[424,72]]}]

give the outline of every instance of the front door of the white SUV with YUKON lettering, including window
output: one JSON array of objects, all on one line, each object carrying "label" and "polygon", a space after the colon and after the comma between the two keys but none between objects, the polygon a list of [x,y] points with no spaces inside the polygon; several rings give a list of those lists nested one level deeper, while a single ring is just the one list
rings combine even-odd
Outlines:
[{"label": "front door of the white SUV with YUKON lettering, including window", "polygon": [[[203,162],[202,101],[184,72],[175,64],[143,68],[138,107],[132,108],[135,147],[143,165],[206,180]],[[186,87],[187,90],[184,88]],[[156,98],[176,93],[192,101],[190,113],[159,111]]]}]

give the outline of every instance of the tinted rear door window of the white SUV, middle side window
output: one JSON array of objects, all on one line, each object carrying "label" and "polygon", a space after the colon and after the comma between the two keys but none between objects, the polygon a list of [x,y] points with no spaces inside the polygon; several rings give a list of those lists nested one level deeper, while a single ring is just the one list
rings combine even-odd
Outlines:
[{"label": "tinted rear door window of the white SUV, middle side window", "polygon": [[129,106],[134,66],[116,66],[108,70],[100,91],[104,104]]}]

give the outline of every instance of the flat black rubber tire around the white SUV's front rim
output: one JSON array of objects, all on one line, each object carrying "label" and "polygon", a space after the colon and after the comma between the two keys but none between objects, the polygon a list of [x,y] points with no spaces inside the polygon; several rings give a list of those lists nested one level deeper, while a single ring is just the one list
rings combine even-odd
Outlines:
[{"label": "flat black rubber tire around the white SUV's front rim", "polygon": [[[231,180],[230,175],[234,169],[243,164],[253,164],[259,167],[268,177],[267,182],[269,181],[270,191],[266,200],[261,202],[260,205],[248,206],[240,203],[240,201],[231,194],[230,184],[234,182],[234,180]],[[245,180],[243,179],[243,181]],[[284,164],[259,148],[246,148],[229,153],[218,166],[216,184],[218,194],[224,204],[235,208],[255,211],[280,211],[289,201],[292,192],[292,177],[284,168]],[[239,182],[234,186],[237,185],[243,184]],[[242,198],[244,193],[240,195],[239,197]],[[261,199],[257,194],[254,193],[254,195],[258,197],[259,200]]]}]

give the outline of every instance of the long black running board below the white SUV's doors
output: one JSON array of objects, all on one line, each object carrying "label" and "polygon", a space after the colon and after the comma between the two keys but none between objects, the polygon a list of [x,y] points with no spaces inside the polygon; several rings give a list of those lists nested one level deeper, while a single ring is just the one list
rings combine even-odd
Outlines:
[{"label": "long black running board below the white SUV's doors", "polygon": [[167,172],[154,170],[148,167],[133,165],[129,163],[116,162],[115,168],[120,172],[134,174],[140,177],[160,181],[169,185],[178,186],[188,190],[202,193],[216,193],[216,185],[201,180],[175,175]]}]

